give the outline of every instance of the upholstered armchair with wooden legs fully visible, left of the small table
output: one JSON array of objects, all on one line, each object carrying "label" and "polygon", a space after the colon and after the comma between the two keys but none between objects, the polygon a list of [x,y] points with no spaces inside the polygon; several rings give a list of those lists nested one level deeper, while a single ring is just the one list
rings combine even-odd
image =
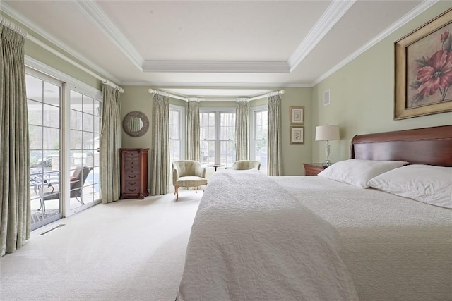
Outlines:
[{"label": "upholstered armchair with wooden legs fully visible, left of the small table", "polygon": [[179,199],[179,187],[194,187],[198,193],[198,186],[207,185],[206,168],[201,167],[199,161],[180,160],[172,162],[171,165],[176,201]]}]

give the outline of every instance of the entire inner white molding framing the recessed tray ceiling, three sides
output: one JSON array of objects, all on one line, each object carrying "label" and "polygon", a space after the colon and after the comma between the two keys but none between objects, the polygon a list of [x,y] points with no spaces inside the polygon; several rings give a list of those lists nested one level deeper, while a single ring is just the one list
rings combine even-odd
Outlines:
[{"label": "entire inner white molding framing the recessed tray ceiling, three sides", "polygon": [[142,72],[183,73],[291,73],[356,0],[334,0],[316,25],[299,44],[287,62],[256,61],[145,61],[124,34],[92,0],[72,0],[74,6],[87,16],[101,32]]}]

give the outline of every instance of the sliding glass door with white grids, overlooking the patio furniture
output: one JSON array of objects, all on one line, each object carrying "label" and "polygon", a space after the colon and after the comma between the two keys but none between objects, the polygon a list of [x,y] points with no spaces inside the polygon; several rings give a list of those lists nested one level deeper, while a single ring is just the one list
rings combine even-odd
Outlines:
[{"label": "sliding glass door with white grids, overlooking the patio furniture", "polygon": [[34,230],[100,202],[102,102],[32,69],[26,85]]}]

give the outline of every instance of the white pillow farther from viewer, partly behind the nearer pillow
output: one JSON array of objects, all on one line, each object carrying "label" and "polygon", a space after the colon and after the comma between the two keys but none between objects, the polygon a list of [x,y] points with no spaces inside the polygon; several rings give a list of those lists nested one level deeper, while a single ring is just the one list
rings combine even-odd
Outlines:
[{"label": "white pillow farther from viewer, partly behind the nearer pillow", "polygon": [[408,162],[405,161],[348,159],[328,166],[319,173],[319,176],[361,188],[368,188],[367,182],[371,178],[406,164]]}]

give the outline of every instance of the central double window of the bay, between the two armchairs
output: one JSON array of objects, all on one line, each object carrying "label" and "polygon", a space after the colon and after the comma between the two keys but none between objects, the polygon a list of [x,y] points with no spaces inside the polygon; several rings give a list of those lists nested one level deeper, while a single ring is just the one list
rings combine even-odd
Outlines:
[{"label": "central double window of the bay, between the two armchairs", "polygon": [[202,165],[232,166],[235,161],[235,111],[221,109],[200,112]]}]

